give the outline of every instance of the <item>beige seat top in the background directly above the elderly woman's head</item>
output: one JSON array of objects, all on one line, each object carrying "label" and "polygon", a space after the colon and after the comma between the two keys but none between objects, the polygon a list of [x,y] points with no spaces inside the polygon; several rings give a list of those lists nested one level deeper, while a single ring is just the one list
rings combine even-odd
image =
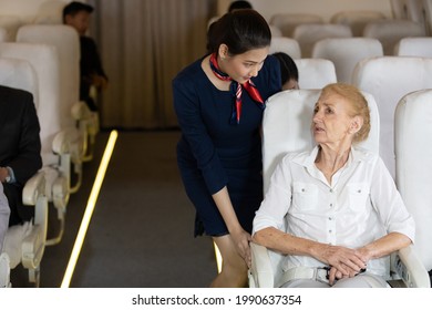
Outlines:
[{"label": "beige seat top in the background directly above the elderly woman's head", "polygon": [[382,44],[371,38],[330,38],[313,45],[312,58],[327,59],[335,64],[339,82],[351,83],[356,64],[367,58],[382,56]]}]

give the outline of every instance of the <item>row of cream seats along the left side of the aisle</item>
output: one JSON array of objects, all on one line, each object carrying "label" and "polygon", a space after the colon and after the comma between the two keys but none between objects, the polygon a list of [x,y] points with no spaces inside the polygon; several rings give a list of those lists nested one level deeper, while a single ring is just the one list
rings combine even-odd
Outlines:
[{"label": "row of cream seats along the left side of the aisle", "polygon": [[[33,95],[43,163],[23,190],[23,203],[38,206],[33,227],[29,231],[9,229],[0,264],[8,260],[11,269],[22,264],[35,286],[44,247],[62,239],[69,197],[80,188],[83,162],[92,159],[99,132],[97,114],[79,101],[79,44],[76,31],[63,24],[21,25],[16,41],[0,42],[0,84]],[[49,206],[58,211],[60,229],[48,240]],[[8,286],[8,278],[1,280],[0,285]]]}]

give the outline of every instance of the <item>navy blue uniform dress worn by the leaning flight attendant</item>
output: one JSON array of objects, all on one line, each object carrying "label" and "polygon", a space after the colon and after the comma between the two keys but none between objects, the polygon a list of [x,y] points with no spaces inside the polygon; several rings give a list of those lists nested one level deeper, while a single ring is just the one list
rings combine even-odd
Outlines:
[{"label": "navy blue uniform dress worn by the leaning flight attendant", "polygon": [[[204,73],[202,61],[188,65],[173,81],[174,107],[182,130],[177,163],[186,194],[196,208],[195,236],[228,234],[212,197],[224,186],[241,227],[250,232],[263,200],[263,108],[243,90],[240,122],[232,124],[234,94],[216,89]],[[279,92],[277,59],[267,56],[251,81],[264,101]]]}]

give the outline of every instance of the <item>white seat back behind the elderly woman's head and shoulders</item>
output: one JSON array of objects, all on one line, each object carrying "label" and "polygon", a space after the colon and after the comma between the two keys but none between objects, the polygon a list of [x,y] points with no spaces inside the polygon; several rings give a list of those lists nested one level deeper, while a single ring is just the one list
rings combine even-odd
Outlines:
[{"label": "white seat back behind the elderly woman's head and shoulders", "polygon": [[[372,95],[363,94],[370,108],[371,131],[359,146],[378,153],[380,125],[377,103]],[[285,154],[313,147],[310,128],[319,95],[320,90],[292,90],[279,92],[267,100],[263,118],[264,193]]]}]

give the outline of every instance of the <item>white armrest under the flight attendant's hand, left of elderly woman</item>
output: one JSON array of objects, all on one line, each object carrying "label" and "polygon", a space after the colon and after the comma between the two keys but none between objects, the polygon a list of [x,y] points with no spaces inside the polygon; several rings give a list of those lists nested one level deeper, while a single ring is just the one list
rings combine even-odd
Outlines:
[{"label": "white armrest under the flight attendant's hand, left of elderly woman", "polygon": [[249,287],[275,287],[274,268],[267,248],[250,242],[250,252],[251,267],[249,270]]}]

